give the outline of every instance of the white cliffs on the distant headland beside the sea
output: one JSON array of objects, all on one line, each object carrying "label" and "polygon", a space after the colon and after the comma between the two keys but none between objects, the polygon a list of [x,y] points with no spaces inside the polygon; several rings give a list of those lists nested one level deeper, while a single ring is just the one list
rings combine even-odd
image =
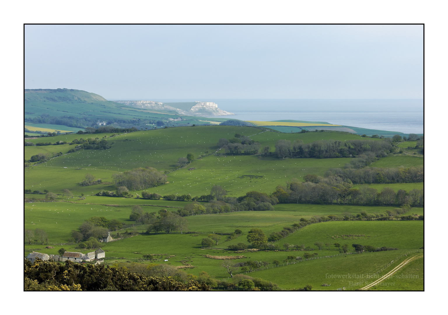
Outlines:
[{"label": "white cliffs on the distant headland beside the sea", "polygon": [[168,106],[164,103],[154,101],[115,101],[120,104],[131,106],[134,108],[153,109],[153,110],[171,110],[181,115],[190,116],[223,116],[235,115],[233,112],[226,112],[218,108],[218,104],[212,102],[198,102],[190,110],[185,111],[179,108]]}]

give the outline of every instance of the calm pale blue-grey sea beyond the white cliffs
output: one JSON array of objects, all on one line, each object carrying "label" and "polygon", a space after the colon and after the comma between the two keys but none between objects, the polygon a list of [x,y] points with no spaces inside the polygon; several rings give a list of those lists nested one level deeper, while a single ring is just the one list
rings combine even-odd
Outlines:
[{"label": "calm pale blue-grey sea beyond the white cliffs", "polygon": [[[129,99],[131,100],[131,99]],[[324,121],[376,130],[423,134],[423,99],[138,99],[164,103],[214,102],[243,121]]]}]

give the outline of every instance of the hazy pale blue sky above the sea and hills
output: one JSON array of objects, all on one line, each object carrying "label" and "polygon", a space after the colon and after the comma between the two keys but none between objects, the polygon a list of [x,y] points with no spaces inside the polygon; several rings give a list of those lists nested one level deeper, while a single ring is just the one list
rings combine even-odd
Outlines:
[{"label": "hazy pale blue sky above the sea and hills", "polygon": [[25,88],[106,99],[423,98],[423,26],[27,25]]}]

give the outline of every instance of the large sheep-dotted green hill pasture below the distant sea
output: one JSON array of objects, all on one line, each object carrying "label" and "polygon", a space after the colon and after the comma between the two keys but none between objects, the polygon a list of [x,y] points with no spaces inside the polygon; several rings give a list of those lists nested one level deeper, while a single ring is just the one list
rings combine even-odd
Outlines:
[{"label": "large sheep-dotted green hill pasture below the distant sea", "polygon": [[[194,134],[194,131],[201,130],[207,130],[207,133],[199,135],[196,132]],[[25,188],[32,189],[29,187],[30,185],[40,184],[41,186],[46,186],[46,189],[50,191],[67,188],[73,190],[75,194],[92,194],[88,187],[80,187],[77,184],[84,179],[86,173],[91,173],[103,181],[111,182],[113,173],[123,172],[136,167],[151,166],[160,171],[167,170],[175,166],[179,157],[186,156],[190,151],[198,156],[205,154],[206,151],[211,153],[218,150],[216,143],[219,138],[233,138],[236,132],[243,135],[251,135],[254,132],[260,132],[260,130],[253,127],[204,126],[168,128],[123,134],[109,140],[113,144],[112,148],[108,150],[76,151],[39,164],[39,167],[27,169],[25,172]],[[304,141],[314,141],[316,136],[308,136],[308,134],[313,133],[301,134],[301,136],[304,136]],[[261,135],[266,137],[266,141],[275,143],[280,134],[263,132],[257,136]],[[348,136],[356,137],[352,134],[327,132],[319,135],[320,137],[326,135],[327,138],[335,138],[332,137],[333,135],[344,136],[343,138]],[[58,138],[67,138],[65,141],[68,141],[69,138],[73,137],[82,138],[80,136],[86,135],[72,134],[52,138],[55,141]],[[101,134],[99,136],[101,137]],[[179,149],[179,147],[182,147],[182,144],[183,149]],[[27,153],[26,156],[31,155]],[[211,186],[219,184],[228,190],[229,196],[240,196],[251,190],[268,193],[273,192],[277,185],[284,185],[285,181],[291,178],[295,177],[301,180],[306,174],[323,176],[328,168],[341,167],[341,165],[345,165],[347,162],[349,162],[349,158],[280,160],[274,157],[254,155],[209,155],[200,160],[194,160],[191,164],[188,164],[187,168],[169,173],[167,178],[169,183],[167,185],[151,188],[148,191],[159,194],[178,193],[200,196],[208,194]],[[196,169],[188,171],[188,168]],[[63,172],[63,176],[61,176],[61,172]],[[243,175],[263,175],[263,178],[239,178]],[[112,190],[113,187],[110,185],[95,186],[95,190],[99,191],[102,189]],[[98,191],[95,190],[94,193],[96,194]],[[140,194],[141,191],[138,193]]]}]

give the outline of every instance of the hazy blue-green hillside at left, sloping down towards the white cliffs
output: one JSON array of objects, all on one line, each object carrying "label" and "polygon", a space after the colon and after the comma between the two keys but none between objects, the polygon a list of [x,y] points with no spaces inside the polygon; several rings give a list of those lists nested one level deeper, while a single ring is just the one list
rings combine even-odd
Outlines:
[{"label": "hazy blue-green hillside at left, sloping down towards the white cliffs", "polygon": [[[153,129],[158,126],[210,125],[223,118],[190,117],[170,111],[151,111],[108,101],[102,96],[73,89],[25,90],[25,122],[35,127],[65,125],[75,129],[106,124],[115,128]],[[189,110],[196,103],[176,103]],[[170,121],[182,117],[182,121]],[[163,124],[159,125],[158,122]],[[61,129],[61,128],[60,128]],[[71,130],[71,129],[65,129]]]}]

